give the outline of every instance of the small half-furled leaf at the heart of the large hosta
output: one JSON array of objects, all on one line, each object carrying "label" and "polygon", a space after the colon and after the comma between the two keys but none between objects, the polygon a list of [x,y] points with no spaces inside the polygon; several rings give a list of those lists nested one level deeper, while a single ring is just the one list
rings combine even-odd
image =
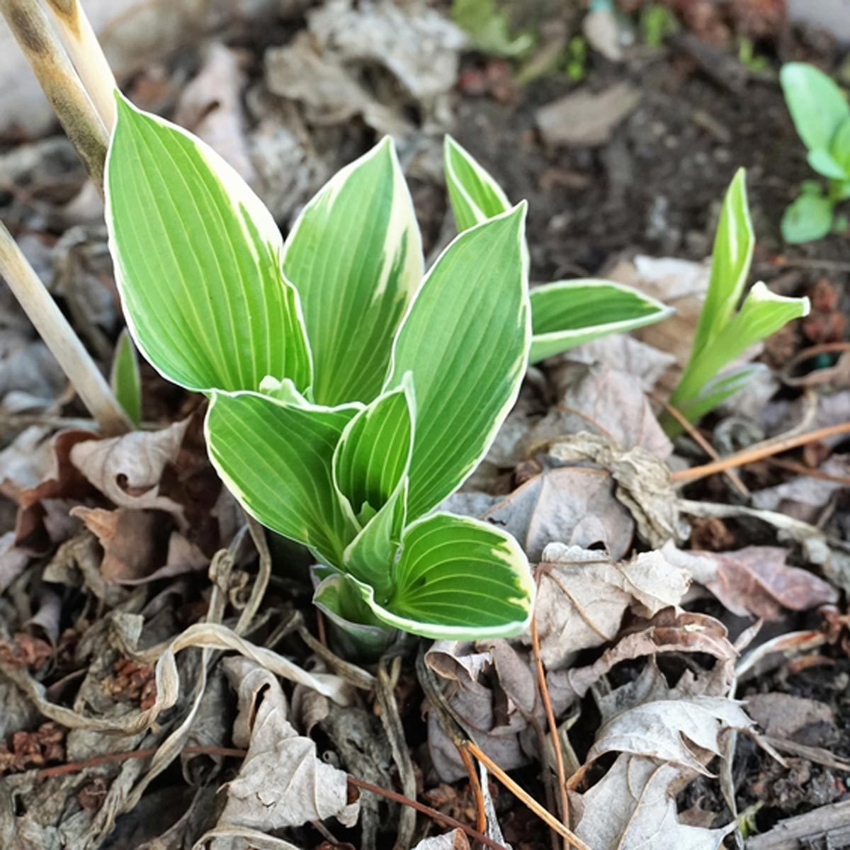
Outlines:
[{"label": "small half-furled leaf at the heart of the large hosta", "polygon": [[343,553],[343,568],[379,596],[392,581],[405,525],[407,475],[416,416],[410,375],[348,422],[333,455],[333,481],[358,535]]}]

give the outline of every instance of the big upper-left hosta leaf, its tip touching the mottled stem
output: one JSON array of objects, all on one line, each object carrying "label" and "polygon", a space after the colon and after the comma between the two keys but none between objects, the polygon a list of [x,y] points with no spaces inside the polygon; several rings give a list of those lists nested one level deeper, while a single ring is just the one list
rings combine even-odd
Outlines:
[{"label": "big upper-left hosta leaf, its tip touching the mottled stem", "polygon": [[206,144],[118,97],[106,224],[127,326],[169,381],[255,390],[310,383],[297,292],[269,211]]}]

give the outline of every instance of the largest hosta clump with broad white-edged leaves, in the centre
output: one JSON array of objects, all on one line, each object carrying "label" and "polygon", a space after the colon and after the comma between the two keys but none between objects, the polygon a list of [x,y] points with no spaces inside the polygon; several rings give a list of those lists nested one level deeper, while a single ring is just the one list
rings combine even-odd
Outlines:
[{"label": "largest hosta clump with broad white-edged leaves, in the centre", "polygon": [[127,326],[163,376],[207,394],[213,465],[246,511],[314,554],[316,604],[360,645],[394,628],[521,632],[534,586],[516,541],[431,512],[519,394],[524,203],[465,229],[423,275],[389,139],[284,242],[199,139],[123,99],[117,113],[107,222]]}]

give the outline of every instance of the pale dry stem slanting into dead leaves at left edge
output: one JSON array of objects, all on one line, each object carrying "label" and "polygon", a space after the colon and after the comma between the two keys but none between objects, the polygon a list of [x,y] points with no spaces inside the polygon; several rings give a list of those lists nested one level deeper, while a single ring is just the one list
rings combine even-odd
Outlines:
[{"label": "pale dry stem slanting into dead leaves at left edge", "polygon": [[59,362],[71,386],[77,390],[82,403],[94,416],[100,430],[107,436],[116,436],[132,430],[127,415],[122,411],[94,360],[83,348],[68,320],[2,223],[0,276],[6,279],[14,297],[18,299],[44,343]]}]

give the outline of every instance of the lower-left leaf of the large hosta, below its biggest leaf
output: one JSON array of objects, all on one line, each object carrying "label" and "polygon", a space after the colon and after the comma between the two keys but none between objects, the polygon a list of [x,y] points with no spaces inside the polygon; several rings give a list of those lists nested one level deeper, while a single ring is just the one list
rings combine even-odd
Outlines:
[{"label": "lower-left leaf of the large hosta, below its biggest leaf", "polygon": [[213,393],[210,460],[242,507],[278,534],[339,566],[356,529],[343,512],[331,461],[361,405],[287,404],[259,393]]}]

